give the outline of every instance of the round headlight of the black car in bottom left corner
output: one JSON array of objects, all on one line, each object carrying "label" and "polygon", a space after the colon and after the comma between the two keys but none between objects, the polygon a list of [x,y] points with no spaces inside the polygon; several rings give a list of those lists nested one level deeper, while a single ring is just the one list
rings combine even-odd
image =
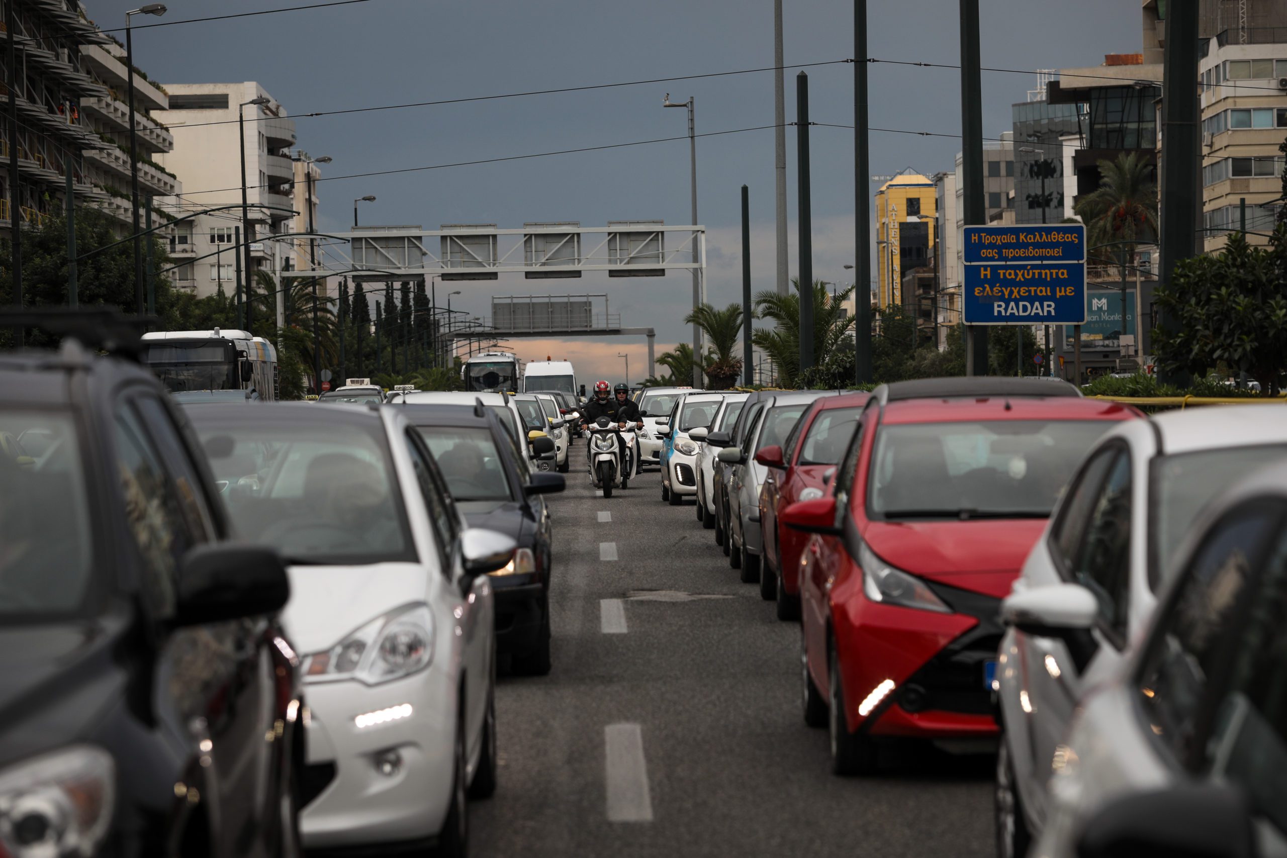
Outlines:
[{"label": "round headlight of the black car in bottom left corner", "polygon": [[107,836],[116,764],[76,745],[0,771],[0,854],[89,858]]}]

